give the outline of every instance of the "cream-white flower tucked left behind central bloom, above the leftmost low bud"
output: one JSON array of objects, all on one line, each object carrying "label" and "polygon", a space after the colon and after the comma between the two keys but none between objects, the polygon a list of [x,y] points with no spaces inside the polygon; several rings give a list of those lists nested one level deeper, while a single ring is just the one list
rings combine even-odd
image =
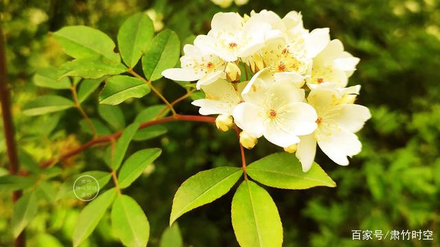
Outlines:
[{"label": "cream-white flower tucked left behind central bloom, above the leftmost low bud", "polygon": [[197,99],[192,104],[200,107],[199,113],[201,115],[232,115],[235,106],[243,102],[241,91],[247,83],[232,84],[227,80],[219,79],[211,84],[201,86],[206,97],[205,99]]}]

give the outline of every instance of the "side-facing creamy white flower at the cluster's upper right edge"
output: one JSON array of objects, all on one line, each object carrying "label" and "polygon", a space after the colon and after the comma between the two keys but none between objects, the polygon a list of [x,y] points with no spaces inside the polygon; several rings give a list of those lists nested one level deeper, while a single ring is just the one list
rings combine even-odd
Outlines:
[{"label": "side-facing creamy white flower at the cluster's upper right edge", "polygon": [[329,45],[314,58],[311,78],[307,84],[334,82],[340,88],[347,86],[348,78],[353,74],[360,59],[353,57],[338,39],[331,40]]}]

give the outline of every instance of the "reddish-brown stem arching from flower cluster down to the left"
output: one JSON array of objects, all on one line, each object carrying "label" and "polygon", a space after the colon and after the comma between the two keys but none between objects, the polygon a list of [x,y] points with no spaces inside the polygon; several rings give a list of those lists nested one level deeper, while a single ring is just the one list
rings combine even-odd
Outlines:
[{"label": "reddish-brown stem arching from flower cluster down to the left", "polygon": [[[148,126],[153,126],[156,124],[164,124],[170,121],[202,121],[202,122],[208,122],[208,123],[214,123],[215,117],[206,117],[206,116],[197,116],[197,115],[173,115],[170,117],[164,117],[163,119],[157,119],[153,121],[146,121],[143,124],[140,125],[140,129],[146,128]],[[66,152],[65,154],[61,154],[58,158],[52,158],[50,160],[44,161],[43,163],[40,163],[40,167],[48,167],[56,162],[59,161],[65,161],[67,158],[70,158],[76,154],[79,154],[80,152],[83,152],[87,148],[90,148],[91,146],[94,146],[98,143],[107,143],[111,141],[112,139],[118,139],[121,136],[122,132],[115,132],[113,134],[109,134],[104,137],[98,137],[96,139],[93,139],[80,147],[70,150],[69,152]]]}]

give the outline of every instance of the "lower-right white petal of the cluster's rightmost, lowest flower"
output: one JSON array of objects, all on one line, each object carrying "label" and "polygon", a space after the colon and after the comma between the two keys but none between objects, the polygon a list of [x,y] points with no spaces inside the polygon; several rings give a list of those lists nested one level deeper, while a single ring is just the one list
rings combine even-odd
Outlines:
[{"label": "lower-right white petal of the cluster's rightmost, lowest flower", "polygon": [[351,157],[362,150],[358,137],[343,128],[331,131],[326,138],[318,138],[318,145],[322,152],[339,165],[349,165],[347,156]]}]

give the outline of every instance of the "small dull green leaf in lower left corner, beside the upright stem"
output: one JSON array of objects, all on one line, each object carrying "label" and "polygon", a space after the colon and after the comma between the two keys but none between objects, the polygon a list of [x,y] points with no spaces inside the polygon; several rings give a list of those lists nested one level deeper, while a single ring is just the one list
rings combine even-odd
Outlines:
[{"label": "small dull green leaf in lower left corner, beside the upright stem", "polygon": [[12,212],[12,234],[17,238],[21,231],[28,226],[38,211],[38,200],[34,192],[26,193],[14,205]]}]

